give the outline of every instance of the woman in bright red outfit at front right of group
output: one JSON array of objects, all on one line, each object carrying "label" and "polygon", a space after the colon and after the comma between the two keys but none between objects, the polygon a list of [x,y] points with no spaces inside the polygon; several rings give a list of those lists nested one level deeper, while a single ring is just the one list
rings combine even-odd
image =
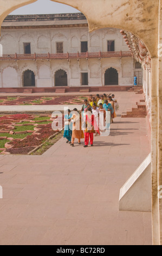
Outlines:
[{"label": "woman in bright red outfit at front right of group", "polygon": [[93,147],[93,134],[97,131],[99,134],[99,127],[96,124],[94,115],[92,114],[92,108],[88,108],[88,112],[86,113],[86,128],[85,128],[85,145],[84,148],[88,147],[89,137],[90,137],[90,146]]}]

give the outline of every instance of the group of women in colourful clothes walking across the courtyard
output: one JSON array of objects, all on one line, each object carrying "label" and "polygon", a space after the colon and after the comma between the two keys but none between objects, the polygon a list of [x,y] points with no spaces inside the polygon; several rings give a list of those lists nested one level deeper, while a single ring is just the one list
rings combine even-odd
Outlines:
[{"label": "group of women in colourful clothes walking across the courtyard", "polygon": [[67,138],[66,143],[74,147],[75,139],[78,139],[78,143],[81,144],[81,139],[85,138],[84,147],[87,148],[90,138],[90,146],[93,147],[94,134],[98,136],[101,131],[105,130],[107,113],[110,113],[109,123],[113,123],[113,119],[116,117],[115,104],[117,101],[114,98],[114,94],[101,96],[97,94],[96,97],[90,95],[88,99],[85,99],[80,112],[76,108],[72,112],[68,109],[64,116],[63,137]]}]

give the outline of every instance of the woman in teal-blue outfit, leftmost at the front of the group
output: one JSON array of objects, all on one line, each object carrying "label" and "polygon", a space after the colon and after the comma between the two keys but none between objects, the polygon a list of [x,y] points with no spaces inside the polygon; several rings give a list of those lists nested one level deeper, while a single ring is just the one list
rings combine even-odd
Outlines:
[{"label": "woman in teal-blue outfit, leftmost at the front of the group", "polygon": [[63,138],[67,138],[66,143],[72,143],[72,130],[73,130],[73,124],[70,122],[70,118],[72,117],[72,114],[70,113],[70,109],[68,109],[68,113],[64,116],[64,133]]}]

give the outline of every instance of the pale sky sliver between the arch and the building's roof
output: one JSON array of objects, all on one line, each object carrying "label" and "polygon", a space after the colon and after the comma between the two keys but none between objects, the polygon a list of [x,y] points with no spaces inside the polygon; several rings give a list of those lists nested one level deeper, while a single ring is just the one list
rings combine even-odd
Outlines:
[{"label": "pale sky sliver between the arch and the building's roof", "polygon": [[79,13],[79,10],[76,10],[66,4],[51,2],[50,0],[38,0],[33,4],[28,4],[24,7],[16,9],[10,13],[10,15],[58,13]]}]

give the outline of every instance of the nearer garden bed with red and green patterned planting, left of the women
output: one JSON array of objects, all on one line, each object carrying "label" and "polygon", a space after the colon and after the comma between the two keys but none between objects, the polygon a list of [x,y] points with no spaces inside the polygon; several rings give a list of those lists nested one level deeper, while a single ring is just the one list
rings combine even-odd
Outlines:
[{"label": "nearer garden bed with red and green patterned planting, left of the women", "polygon": [[57,120],[46,114],[1,115],[0,154],[42,154],[62,137],[61,130],[52,129],[53,122]]}]

